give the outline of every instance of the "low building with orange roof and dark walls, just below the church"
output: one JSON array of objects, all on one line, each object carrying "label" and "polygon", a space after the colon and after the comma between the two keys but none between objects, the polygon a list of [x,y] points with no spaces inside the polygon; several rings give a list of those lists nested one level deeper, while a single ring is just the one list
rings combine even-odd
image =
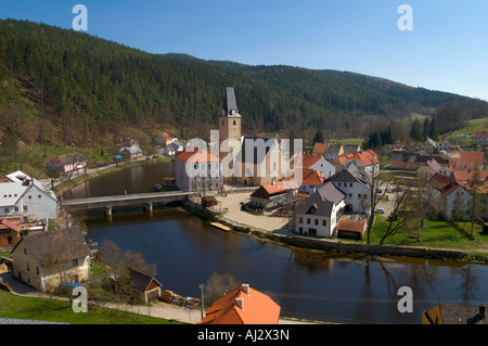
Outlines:
[{"label": "low building with orange roof and dark walls, just below the church", "polygon": [[249,206],[258,209],[270,209],[280,205],[295,202],[298,185],[293,181],[278,181],[260,185],[251,194]]}]

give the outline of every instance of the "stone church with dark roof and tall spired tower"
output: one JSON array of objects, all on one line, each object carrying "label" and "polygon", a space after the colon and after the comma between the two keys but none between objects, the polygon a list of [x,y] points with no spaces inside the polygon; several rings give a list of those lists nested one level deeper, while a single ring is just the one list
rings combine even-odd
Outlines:
[{"label": "stone church with dark roof and tall spired tower", "polygon": [[278,138],[243,137],[234,88],[226,89],[219,116],[219,155],[224,181],[260,187],[290,175],[290,152]]}]

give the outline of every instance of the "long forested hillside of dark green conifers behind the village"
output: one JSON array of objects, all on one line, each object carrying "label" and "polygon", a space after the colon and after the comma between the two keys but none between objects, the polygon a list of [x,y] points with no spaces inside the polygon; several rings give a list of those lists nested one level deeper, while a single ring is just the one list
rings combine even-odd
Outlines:
[{"label": "long forested hillside of dark green conifers behind the village", "polygon": [[0,120],[24,142],[95,146],[137,130],[208,137],[226,87],[247,133],[326,136],[465,98],[335,71],[150,54],[88,34],[0,21]]}]

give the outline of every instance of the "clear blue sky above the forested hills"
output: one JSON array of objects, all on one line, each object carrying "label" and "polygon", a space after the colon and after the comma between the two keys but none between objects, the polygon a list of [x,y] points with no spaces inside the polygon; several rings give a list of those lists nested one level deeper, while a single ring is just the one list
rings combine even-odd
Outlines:
[{"label": "clear blue sky above the forested hills", "polygon": [[[488,101],[486,0],[0,0],[0,18],[72,28],[152,53],[383,77]],[[401,4],[412,30],[397,26]]]}]

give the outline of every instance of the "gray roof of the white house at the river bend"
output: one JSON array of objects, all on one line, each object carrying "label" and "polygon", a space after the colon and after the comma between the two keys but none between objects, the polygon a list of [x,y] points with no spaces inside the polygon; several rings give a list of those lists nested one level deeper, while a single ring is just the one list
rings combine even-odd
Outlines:
[{"label": "gray roof of the white house at the river bend", "polygon": [[296,206],[296,214],[331,216],[334,205],[346,197],[332,182],[325,182],[306,201]]}]

